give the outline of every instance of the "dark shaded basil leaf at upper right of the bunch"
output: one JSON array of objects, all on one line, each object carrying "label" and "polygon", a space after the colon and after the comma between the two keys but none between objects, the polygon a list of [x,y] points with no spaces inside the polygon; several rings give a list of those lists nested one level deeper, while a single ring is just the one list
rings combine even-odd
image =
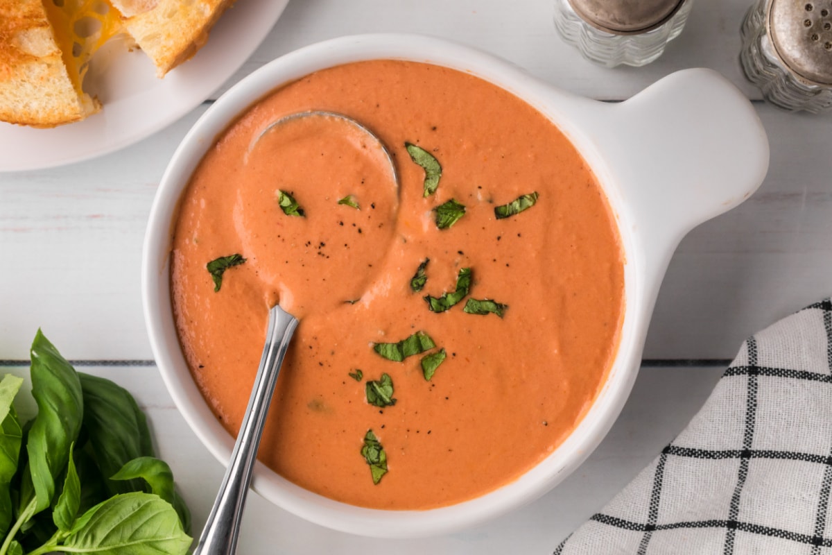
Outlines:
[{"label": "dark shaded basil leaf at upper right of the bunch", "polygon": [[[154,456],[151,432],[136,399],[109,379],[79,375],[84,395],[84,429],[102,476],[113,476],[134,458]],[[139,479],[106,480],[106,488],[111,494],[141,492],[145,483]]]}]

